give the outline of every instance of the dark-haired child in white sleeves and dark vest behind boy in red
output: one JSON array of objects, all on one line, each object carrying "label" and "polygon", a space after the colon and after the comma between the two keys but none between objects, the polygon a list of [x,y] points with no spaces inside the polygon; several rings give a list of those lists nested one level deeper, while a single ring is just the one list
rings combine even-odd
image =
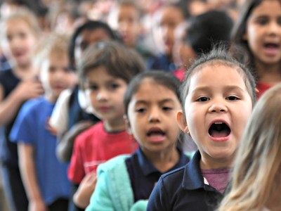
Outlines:
[{"label": "dark-haired child in white sleeves and dark vest behind boy in red", "polygon": [[[72,35],[69,46],[71,69],[77,72],[76,63],[79,63],[88,46],[110,39],[118,37],[103,22],[87,21],[78,27]],[[78,84],[74,89],[63,91],[50,119],[51,127],[55,129],[60,139],[57,148],[58,158],[63,162],[69,162],[75,137],[98,121],[98,117],[91,113],[91,108],[87,109],[86,99]]]}]

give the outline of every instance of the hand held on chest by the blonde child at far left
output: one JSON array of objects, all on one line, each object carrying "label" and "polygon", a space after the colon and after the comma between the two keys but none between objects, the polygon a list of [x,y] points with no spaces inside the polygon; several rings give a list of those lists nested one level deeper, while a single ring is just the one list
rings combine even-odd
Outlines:
[{"label": "hand held on chest by the blonde child at far left", "polygon": [[18,98],[22,99],[22,101],[37,98],[41,96],[41,94],[44,94],[41,82],[38,82],[35,79],[28,79],[20,82],[15,91],[18,94]]}]

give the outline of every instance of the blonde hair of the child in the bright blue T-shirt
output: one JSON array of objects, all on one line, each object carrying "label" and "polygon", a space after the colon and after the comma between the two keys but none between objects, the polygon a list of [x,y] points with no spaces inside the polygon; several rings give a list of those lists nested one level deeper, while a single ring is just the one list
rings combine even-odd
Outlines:
[{"label": "blonde hair of the child in the bright blue T-shirt", "polygon": [[70,37],[66,34],[48,34],[48,36],[45,37],[43,41],[41,41],[34,53],[34,67],[40,69],[44,60],[53,55],[53,53],[67,56],[69,41]]}]

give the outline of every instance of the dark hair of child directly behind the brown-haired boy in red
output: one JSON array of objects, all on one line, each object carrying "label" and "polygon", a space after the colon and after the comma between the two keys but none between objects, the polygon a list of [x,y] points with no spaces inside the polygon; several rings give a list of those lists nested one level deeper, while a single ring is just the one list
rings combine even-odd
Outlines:
[{"label": "dark hair of child directly behind the brown-haired boy in red", "polygon": [[79,34],[81,32],[84,32],[85,30],[97,30],[97,29],[103,29],[107,34],[110,36],[111,39],[121,41],[121,38],[118,36],[116,32],[114,32],[106,23],[103,23],[101,21],[95,21],[95,20],[88,20],[86,23],[83,25],[77,27],[75,32],[72,34],[72,37],[70,39],[70,46],[69,46],[69,51],[68,55],[70,58],[70,69],[75,70],[73,61],[74,61],[74,50],[75,50],[75,41]]}]

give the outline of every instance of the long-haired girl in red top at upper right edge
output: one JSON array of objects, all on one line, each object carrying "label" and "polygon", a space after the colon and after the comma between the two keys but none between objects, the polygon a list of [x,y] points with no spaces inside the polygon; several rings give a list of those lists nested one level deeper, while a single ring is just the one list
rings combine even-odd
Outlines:
[{"label": "long-haired girl in red top at upper right edge", "polygon": [[281,82],[280,18],[278,0],[244,1],[233,29],[233,41],[244,50],[241,58],[254,70],[257,98]]}]

